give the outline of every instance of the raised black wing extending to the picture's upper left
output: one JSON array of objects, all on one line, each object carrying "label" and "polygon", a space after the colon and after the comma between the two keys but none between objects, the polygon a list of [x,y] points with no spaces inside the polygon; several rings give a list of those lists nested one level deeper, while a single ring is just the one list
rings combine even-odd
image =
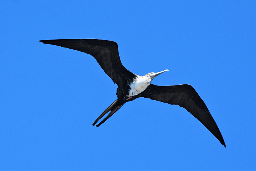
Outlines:
[{"label": "raised black wing extending to the picture's upper left", "polygon": [[114,41],[98,39],[57,39],[40,40],[40,42],[66,47],[92,55],[104,72],[114,83],[117,83],[118,87],[126,86],[127,82],[131,82],[134,77],[133,73],[123,67],[119,57],[117,43]]}]

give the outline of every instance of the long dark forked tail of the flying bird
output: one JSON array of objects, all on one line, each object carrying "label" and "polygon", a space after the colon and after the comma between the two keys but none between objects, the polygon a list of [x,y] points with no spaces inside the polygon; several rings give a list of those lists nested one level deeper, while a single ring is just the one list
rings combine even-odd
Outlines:
[{"label": "long dark forked tail of the flying bird", "polygon": [[[118,99],[117,99],[118,100]],[[99,127],[102,123],[104,123],[107,119],[110,118],[110,116],[114,115],[118,109],[120,109],[123,105],[117,105],[117,100],[114,101],[102,114],[93,122],[93,126],[105,115],[107,112],[110,111],[109,115],[105,117],[96,127]]]}]

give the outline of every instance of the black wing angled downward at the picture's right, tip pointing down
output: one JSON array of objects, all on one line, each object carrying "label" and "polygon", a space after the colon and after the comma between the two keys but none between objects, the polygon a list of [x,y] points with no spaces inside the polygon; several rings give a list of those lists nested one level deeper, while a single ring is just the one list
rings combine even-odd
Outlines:
[{"label": "black wing angled downward at the picture's right, tip pointing down", "polygon": [[226,147],[221,132],[208,108],[195,89],[189,84],[176,86],[156,86],[150,84],[138,97],[151,98],[171,105],[179,105],[190,112],[205,125],[211,133]]}]

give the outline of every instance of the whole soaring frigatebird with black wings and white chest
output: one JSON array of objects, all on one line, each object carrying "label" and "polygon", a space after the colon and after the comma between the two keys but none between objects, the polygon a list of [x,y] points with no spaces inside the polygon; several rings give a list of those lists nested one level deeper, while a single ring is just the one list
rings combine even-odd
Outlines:
[{"label": "whole soaring frigatebird with black wings and white chest", "polygon": [[92,55],[104,72],[117,84],[117,100],[114,101],[102,114],[95,120],[93,126],[109,111],[110,113],[96,127],[99,127],[109,117],[111,117],[126,102],[135,100],[139,97],[150,98],[162,101],[171,105],[179,105],[190,112],[195,118],[205,125],[205,127],[226,147],[221,132],[211,116],[208,108],[200,98],[195,89],[189,84],[175,86],[156,86],[151,81],[164,70],[158,73],[148,73],[139,76],[123,67],[117,43],[109,40],[98,39],[58,39],[40,40],[45,44],[74,49]]}]

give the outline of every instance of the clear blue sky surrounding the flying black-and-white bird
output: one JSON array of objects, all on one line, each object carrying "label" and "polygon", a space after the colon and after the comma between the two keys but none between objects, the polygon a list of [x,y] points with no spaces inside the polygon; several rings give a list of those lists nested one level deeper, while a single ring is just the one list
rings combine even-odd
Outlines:
[{"label": "clear blue sky surrounding the flying black-and-white bird", "polygon": [[[131,72],[192,85],[227,147],[146,98],[93,127],[117,85],[90,55],[38,42],[67,38],[115,41]],[[254,0],[1,1],[0,40],[0,170],[256,169]]]}]

